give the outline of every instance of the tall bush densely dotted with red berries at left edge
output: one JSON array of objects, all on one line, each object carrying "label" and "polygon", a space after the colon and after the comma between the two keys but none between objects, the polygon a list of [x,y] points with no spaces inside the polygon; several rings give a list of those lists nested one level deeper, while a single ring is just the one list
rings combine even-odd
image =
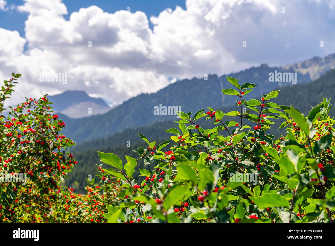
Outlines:
[{"label": "tall bush densely dotted with red berries at left edge", "polygon": [[74,221],[77,212],[71,213],[67,200],[75,195],[60,186],[77,163],[66,151],[74,143],[61,133],[65,123],[46,95],[25,98],[5,112],[20,76],[13,73],[0,91],[0,221]]}]

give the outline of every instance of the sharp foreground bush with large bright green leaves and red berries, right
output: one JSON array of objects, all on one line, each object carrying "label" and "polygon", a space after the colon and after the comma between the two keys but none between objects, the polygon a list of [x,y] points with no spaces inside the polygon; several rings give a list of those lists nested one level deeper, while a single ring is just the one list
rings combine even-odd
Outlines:
[{"label": "sharp foreground bush with large bright green leaves and red berries, right", "polygon": [[[279,91],[246,101],[256,85],[227,79],[235,88],[222,92],[237,98],[236,111],[178,112],[179,129],[166,130],[173,136],[158,145],[139,134],[146,146],[134,151],[154,166],[139,169],[140,177],[133,177],[136,159],[126,156],[123,164],[113,153],[98,152],[112,166],[103,176],[121,183],[115,202],[106,205],[107,222],[333,223],[330,101],[324,98],[305,116],[271,102]],[[202,117],[213,121],[212,129],[197,124]],[[283,120],[285,136],[267,134],[274,118]],[[255,176],[256,182],[246,178]]]}]

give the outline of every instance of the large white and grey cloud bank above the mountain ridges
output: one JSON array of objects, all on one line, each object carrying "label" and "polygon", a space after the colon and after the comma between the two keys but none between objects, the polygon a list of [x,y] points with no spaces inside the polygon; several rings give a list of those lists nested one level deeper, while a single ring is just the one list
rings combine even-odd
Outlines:
[{"label": "large white and grey cloud bank above the mountain ridges", "polygon": [[[17,9],[29,14],[25,39],[0,28],[0,76],[23,74],[17,96],[80,89],[117,104],[175,82],[171,77],[332,53],[334,7],[334,0],[187,0],[186,9],[151,17],[151,30],[139,11],[90,6],[66,20],[62,0],[24,0]],[[40,81],[52,73],[66,73],[67,83]]]}]

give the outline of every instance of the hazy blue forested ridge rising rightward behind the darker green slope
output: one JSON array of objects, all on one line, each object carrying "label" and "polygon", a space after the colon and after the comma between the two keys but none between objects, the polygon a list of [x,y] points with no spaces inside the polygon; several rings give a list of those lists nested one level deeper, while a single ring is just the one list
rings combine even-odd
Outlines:
[{"label": "hazy blue forested ridge rising rightward behind the darker green slope", "polygon": [[[227,76],[237,78],[241,84],[247,82],[257,84],[258,86],[255,88],[257,94],[266,94],[275,88],[292,86],[290,81],[270,82],[270,73],[275,71],[282,74],[296,73],[296,83],[306,84],[312,81],[310,76],[321,76],[331,69],[333,63],[335,64],[335,54],[320,59],[312,58],[286,67],[269,67],[267,64],[261,64],[240,72],[230,73]],[[322,69],[318,66],[317,61],[321,61]],[[313,71],[317,72],[312,73]],[[233,105],[235,104],[234,99],[223,95],[221,91],[221,88],[230,88],[231,86],[225,76],[209,74],[207,80],[196,77],[183,79],[155,93],[142,93],[124,101],[104,114],[78,119],[75,125],[70,124],[65,131],[74,141],[81,143],[86,140],[99,139],[123,129],[147,126],[154,122],[168,121],[176,117],[154,115],[153,109],[159,104],[179,106],[185,112],[204,108],[208,105],[211,105],[211,107]],[[251,97],[246,95],[245,99],[251,99]]]}]

